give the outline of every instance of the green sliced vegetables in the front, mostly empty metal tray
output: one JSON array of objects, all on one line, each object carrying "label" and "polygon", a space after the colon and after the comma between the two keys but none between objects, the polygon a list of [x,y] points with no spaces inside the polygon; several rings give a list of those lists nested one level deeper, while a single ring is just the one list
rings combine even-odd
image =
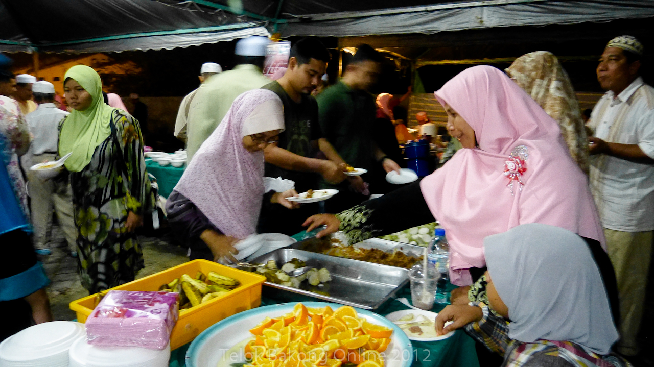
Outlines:
[{"label": "green sliced vegetables in the front, mostly empty metal tray", "polygon": [[297,268],[303,268],[304,266],[307,266],[307,264],[304,261],[301,261],[300,259],[296,259],[296,258],[292,259],[291,261],[288,261],[288,263],[283,264],[281,268],[277,267],[277,263],[275,263],[274,260],[269,260],[265,265],[264,264],[254,264],[254,265],[261,265],[267,268],[267,269],[256,268],[255,270],[256,272],[263,274],[266,277],[267,281],[279,285],[284,285],[286,287],[300,288],[300,283],[305,280],[307,280],[308,283],[311,285],[319,285],[320,283],[326,283],[332,280],[332,275],[330,274],[329,270],[327,270],[326,268],[322,268],[320,270],[309,269],[308,272],[301,274],[300,276],[293,276],[293,277],[288,276],[286,272],[290,272]]}]

